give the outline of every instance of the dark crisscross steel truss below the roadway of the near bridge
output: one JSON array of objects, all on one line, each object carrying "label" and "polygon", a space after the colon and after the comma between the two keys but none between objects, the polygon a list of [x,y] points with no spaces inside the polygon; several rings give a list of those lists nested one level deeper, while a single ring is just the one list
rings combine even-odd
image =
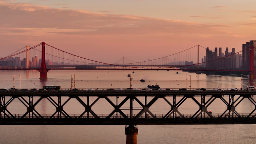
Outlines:
[{"label": "dark crisscross steel truss below the roadway of the near bridge", "polygon": [[[28,100],[26,100],[24,97],[28,97]],[[56,111],[51,114],[50,117],[48,118],[63,118],[65,117],[66,119],[71,119],[74,117],[71,117],[70,114],[66,113],[65,110],[63,109],[63,106],[65,104],[67,104],[68,101],[70,101],[71,98],[76,99],[84,108],[85,111],[83,111],[83,113],[79,114],[79,116],[77,116],[77,119],[101,119],[100,116],[98,116],[92,109],[92,106],[100,99],[106,99],[106,101],[112,105],[112,107],[114,108],[114,110],[108,114],[106,116],[107,119],[113,118],[115,117],[115,113],[116,113],[116,118],[119,119],[127,119],[127,120],[133,120],[134,122],[136,122],[137,120],[141,120],[141,117],[143,114],[145,114],[145,118],[147,120],[147,117],[151,117],[150,119],[155,120],[156,122],[159,120],[172,120],[174,118],[181,118],[184,121],[188,120],[188,118],[186,116],[184,116],[183,114],[181,114],[178,110],[178,108],[183,104],[183,102],[185,102],[188,98],[191,98],[198,106],[199,109],[192,115],[189,117],[189,119],[191,121],[199,119],[199,118],[205,118],[207,117],[208,119],[212,119],[212,120],[224,120],[225,118],[229,118],[229,119],[233,119],[234,117],[238,117],[238,118],[243,118],[236,110],[235,108],[237,107],[238,104],[240,104],[245,98],[249,99],[250,102],[252,102],[253,105],[255,105],[255,109],[247,116],[247,117],[252,117],[255,118],[256,114],[253,114],[253,112],[256,111],[256,101],[252,98],[252,96],[247,95],[247,96],[238,96],[237,99],[234,99],[235,95],[229,95],[229,101],[226,101],[222,95],[213,95],[213,96],[208,96],[210,97],[206,102],[205,102],[205,97],[206,95],[201,95],[201,102],[197,101],[195,99],[195,95],[184,95],[182,96],[182,98],[176,103],[176,98],[177,95],[171,95],[170,97],[173,97],[173,104],[171,104],[170,101],[167,100],[167,97],[165,95],[156,95],[153,97],[153,99],[149,102],[147,102],[147,96],[145,97],[144,102],[140,101],[137,96],[135,95],[128,95],[124,98],[124,100],[122,100],[119,104],[118,104],[118,98],[119,96],[116,96],[116,104],[114,104],[108,96],[106,95],[100,95],[97,97],[96,100],[94,100],[92,102],[92,104],[90,105],[90,97],[89,95],[86,96],[87,98],[87,103],[85,103],[79,96],[68,96],[68,99],[64,101],[64,103],[61,103],[61,98],[62,96],[57,96],[58,100],[55,101],[53,99],[53,97],[56,96],[51,96],[51,95],[44,95],[44,96],[40,96],[39,99],[34,103],[33,102],[33,98],[34,96],[11,96],[10,99],[6,102],[6,96],[0,96],[0,119],[1,118],[17,118],[15,117],[14,114],[10,113],[10,111],[7,110],[7,106],[16,98],[18,99],[26,108],[27,111],[22,114],[21,117],[19,117],[19,119],[22,118],[39,118],[39,119],[44,119],[44,117],[42,116],[42,114],[39,114],[37,112],[37,110],[35,110],[35,106],[43,99],[47,99],[55,108]],[[157,117],[155,114],[153,114],[149,108],[156,102],[158,101],[159,98],[164,99],[170,106],[171,109],[164,114],[164,116],[162,117]],[[226,106],[227,109],[218,117],[213,117],[211,113],[209,113],[207,111],[207,107],[216,99],[219,98]],[[133,110],[137,108],[133,107],[133,101],[136,101],[140,106],[141,109],[138,112],[138,114],[135,114],[135,116],[133,115]],[[122,109],[122,106],[126,103],[129,102],[130,103],[130,107],[127,110],[130,110],[130,116],[128,116],[127,114],[125,114]],[[144,104],[143,104],[144,103]],[[140,107],[139,107],[140,108]],[[228,111],[228,113],[226,113]],[[232,112],[232,113],[231,113]],[[118,113],[120,114],[120,117],[118,117]],[[176,113],[179,114],[179,116],[176,116]],[[85,116],[86,114],[86,116]],[[149,114],[149,115],[148,115]],[[206,114],[206,116],[205,116]]]}]

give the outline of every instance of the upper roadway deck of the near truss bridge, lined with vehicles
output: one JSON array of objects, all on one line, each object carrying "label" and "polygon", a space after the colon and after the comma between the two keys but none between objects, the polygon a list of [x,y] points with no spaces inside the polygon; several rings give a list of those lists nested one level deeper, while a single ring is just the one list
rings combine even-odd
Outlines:
[{"label": "upper roadway deck of the near truss bridge, lined with vehicles", "polygon": [[256,96],[256,91],[246,91],[241,90],[238,92],[231,92],[229,90],[224,90],[223,92],[216,92],[215,90],[206,90],[203,92],[195,92],[194,90],[179,91],[179,90],[170,90],[170,91],[104,91],[104,90],[95,90],[94,92],[81,90],[81,91],[55,91],[55,92],[40,92],[40,91],[15,91],[15,92],[1,92],[1,96]]}]

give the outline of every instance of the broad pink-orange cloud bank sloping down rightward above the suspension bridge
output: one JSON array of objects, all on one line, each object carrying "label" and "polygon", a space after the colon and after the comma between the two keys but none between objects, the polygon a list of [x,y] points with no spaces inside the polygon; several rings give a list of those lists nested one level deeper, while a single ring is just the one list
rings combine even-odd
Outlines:
[{"label": "broad pink-orange cloud bank sloping down rightward above the suspension bridge", "polygon": [[[141,61],[145,59],[142,53],[151,59],[158,58],[197,44],[219,47],[215,46],[218,43],[235,48],[255,29],[254,25],[249,25],[251,29],[247,31],[241,24],[201,24],[7,2],[0,2],[0,19],[0,47],[19,49],[46,42],[75,55],[108,63],[122,56]],[[238,36],[244,36],[241,42]],[[1,52],[8,54],[6,50]]]}]

